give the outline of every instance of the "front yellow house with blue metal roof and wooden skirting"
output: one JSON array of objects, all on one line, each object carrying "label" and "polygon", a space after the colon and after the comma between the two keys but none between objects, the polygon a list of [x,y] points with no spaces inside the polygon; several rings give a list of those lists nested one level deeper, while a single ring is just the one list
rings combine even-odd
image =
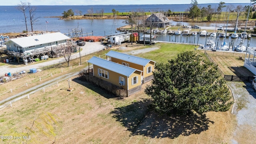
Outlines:
[{"label": "front yellow house with blue metal roof and wooden skirting", "polygon": [[128,96],[141,90],[142,71],[96,56],[88,60],[88,63],[93,64],[93,76],[122,87],[127,90]]}]

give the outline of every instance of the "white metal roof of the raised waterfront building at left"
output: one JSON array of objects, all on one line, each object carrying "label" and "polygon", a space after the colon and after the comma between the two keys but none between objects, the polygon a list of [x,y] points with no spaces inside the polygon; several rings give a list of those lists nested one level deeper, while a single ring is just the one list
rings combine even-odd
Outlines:
[{"label": "white metal roof of the raised waterfront building at left", "polygon": [[37,46],[40,44],[47,44],[51,42],[68,40],[68,39],[70,39],[70,37],[60,32],[54,32],[54,33],[39,34],[34,36],[25,36],[22,38],[11,38],[10,41],[21,46],[22,48],[26,48],[29,46]]}]

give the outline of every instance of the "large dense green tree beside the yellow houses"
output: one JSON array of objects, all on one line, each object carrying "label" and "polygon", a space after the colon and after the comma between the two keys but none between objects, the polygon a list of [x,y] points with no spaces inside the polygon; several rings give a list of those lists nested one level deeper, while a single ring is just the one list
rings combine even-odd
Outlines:
[{"label": "large dense green tree beside the yellow houses", "polygon": [[168,63],[157,63],[155,69],[152,85],[145,93],[160,114],[222,112],[233,103],[217,67],[196,52],[182,52]]}]

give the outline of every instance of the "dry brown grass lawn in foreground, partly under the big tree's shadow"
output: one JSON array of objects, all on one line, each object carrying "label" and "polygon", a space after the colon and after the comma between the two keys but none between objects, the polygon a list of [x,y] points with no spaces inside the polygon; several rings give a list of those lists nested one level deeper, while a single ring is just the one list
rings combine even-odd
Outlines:
[{"label": "dry brown grass lawn in foreground, partly under the big tree's shadow", "polygon": [[51,144],[55,136],[56,142],[62,144],[231,143],[235,118],[230,111],[158,116],[148,111],[150,98],[143,91],[128,98],[115,98],[76,77],[72,80],[72,92],[66,90],[68,84],[63,81],[58,87],[36,92],[30,99],[2,110],[0,134],[22,136],[36,118],[29,143]]}]

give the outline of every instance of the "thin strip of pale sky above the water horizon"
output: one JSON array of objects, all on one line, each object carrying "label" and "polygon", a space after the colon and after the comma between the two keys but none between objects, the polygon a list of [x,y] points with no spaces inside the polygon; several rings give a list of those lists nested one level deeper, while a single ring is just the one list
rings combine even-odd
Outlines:
[{"label": "thin strip of pale sky above the water horizon", "polygon": [[[20,2],[38,5],[130,5],[130,4],[190,4],[191,0],[1,0],[2,6],[17,6]],[[198,4],[250,3],[250,0],[197,0]]]}]

